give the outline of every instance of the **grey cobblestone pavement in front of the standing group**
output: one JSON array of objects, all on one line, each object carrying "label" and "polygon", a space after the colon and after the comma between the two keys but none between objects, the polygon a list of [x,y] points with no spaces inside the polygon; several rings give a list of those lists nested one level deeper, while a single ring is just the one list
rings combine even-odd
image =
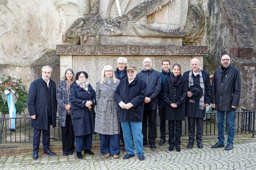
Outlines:
[{"label": "grey cobblestone pavement in front of the standing group", "polygon": [[71,156],[47,156],[40,154],[38,160],[33,160],[32,155],[1,156],[0,168],[9,170],[22,169],[256,169],[256,139],[235,141],[234,149],[226,151],[224,148],[211,149],[214,142],[203,143],[204,148],[198,149],[196,143],[193,149],[186,149],[186,143],[182,143],[181,152],[168,150],[168,145],[152,151],[145,148],[144,161],[139,161],[138,157],[123,160],[126,152],[120,153],[119,159],[112,156],[104,158],[98,150],[94,156],[84,155],[83,160],[79,160],[73,154]]}]

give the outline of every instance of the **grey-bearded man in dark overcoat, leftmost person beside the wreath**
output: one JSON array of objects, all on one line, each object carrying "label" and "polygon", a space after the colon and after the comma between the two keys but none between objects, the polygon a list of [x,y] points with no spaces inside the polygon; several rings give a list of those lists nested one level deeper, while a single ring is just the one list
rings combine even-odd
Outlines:
[{"label": "grey-bearded man in dark overcoat, leftmost person beside the wreath", "polygon": [[50,150],[50,125],[56,127],[56,84],[50,79],[52,68],[42,67],[42,77],[30,84],[28,91],[28,112],[31,117],[31,127],[34,127],[33,136],[33,159],[38,159],[40,135],[44,153],[56,155]]}]

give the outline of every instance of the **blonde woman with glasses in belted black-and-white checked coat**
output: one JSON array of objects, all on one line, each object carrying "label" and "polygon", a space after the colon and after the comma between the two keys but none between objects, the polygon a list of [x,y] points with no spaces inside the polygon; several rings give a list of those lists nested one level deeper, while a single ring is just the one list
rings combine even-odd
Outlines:
[{"label": "blonde woman with glasses in belted black-and-white checked coat", "polygon": [[100,133],[100,153],[105,158],[118,158],[120,123],[114,92],[120,80],[115,78],[112,66],[104,66],[102,78],[96,83],[95,132]]}]

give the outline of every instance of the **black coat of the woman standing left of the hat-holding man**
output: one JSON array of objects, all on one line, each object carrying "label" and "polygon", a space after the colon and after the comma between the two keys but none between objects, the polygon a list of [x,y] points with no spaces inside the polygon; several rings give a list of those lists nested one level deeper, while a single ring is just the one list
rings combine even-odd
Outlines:
[{"label": "black coat of the woman standing left of the hat-holding man", "polygon": [[[187,93],[188,83],[186,78],[182,77],[182,82],[180,82],[179,86],[174,86],[170,78],[166,79],[164,88],[166,120],[185,120],[185,100]],[[176,104],[178,107],[171,107],[170,105],[172,103]]]}]

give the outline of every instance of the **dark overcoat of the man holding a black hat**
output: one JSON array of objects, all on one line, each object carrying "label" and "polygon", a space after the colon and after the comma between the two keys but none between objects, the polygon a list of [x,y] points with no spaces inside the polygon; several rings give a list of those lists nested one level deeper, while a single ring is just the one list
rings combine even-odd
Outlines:
[{"label": "dark overcoat of the man holding a black hat", "polygon": [[[203,76],[203,81],[204,81],[204,104],[211,104],[211,96],[212,96],[212,88],[210,84],[210,76],[209,73],[201,70],[202,71],[202,76]],[[187,82],[189,82],[189,72],[186,71],[183,74],[183,77],[187,79]],[[192,78],[193,78],[193,83],[194,85],[200,86],[200,76],[199,74],[197,76],[194,76],[192,73]],[[190,98],[186,98],[186,117],[199,117],[203,118],[205,116],[205,111],[206,107],[204,107],[203,110],[199,108],[200,100],[196,100],[194,103],[189,102]]]}]

